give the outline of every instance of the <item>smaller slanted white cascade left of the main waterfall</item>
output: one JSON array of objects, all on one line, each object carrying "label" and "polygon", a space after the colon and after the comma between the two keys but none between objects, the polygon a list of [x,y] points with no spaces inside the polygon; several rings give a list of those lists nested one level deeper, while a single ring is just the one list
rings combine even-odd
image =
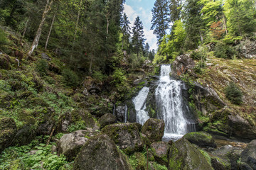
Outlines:
[{"label": "smaller slanted white cascade left of the main waterfall", "polygon": [[137,123],[144,124],[149,119],[149,115],[146,111],[145,103],[146,97],[149,94],[149,87],[143,87],[139,94],[132,100],[137,113]]}]

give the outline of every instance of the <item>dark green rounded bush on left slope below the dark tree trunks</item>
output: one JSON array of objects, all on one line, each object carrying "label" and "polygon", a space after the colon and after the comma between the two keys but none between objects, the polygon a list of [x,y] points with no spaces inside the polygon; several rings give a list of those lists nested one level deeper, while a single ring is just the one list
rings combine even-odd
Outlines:
[{"label": "dark green rounded bush on left slope below the dark tree trunks", "polygon": [[78,86],[78,75],[70,69],[63,69],[63,83],[66,86],[75,87]]}]

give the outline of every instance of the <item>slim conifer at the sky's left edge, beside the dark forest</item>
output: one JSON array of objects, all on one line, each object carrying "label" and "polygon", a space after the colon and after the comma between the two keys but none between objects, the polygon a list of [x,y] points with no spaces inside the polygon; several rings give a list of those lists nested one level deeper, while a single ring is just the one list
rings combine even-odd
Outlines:
[{"label": "slim conifer at the sky's left edge, beside the dark forest", "polygon": [[124,16],[122,17],[122,21],[121,21],[121,30],[122,30],[122,49],[124,48],[124,41],[129,42],[129,37],[131,34],[131,28],[129,27],[129,20],[128,17],[126,15],[126,13],[124,13]]}]

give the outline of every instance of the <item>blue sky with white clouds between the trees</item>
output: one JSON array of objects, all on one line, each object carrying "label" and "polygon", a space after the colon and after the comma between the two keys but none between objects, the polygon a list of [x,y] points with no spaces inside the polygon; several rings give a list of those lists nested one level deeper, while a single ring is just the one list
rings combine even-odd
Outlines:
[{"label": "blue sky with white clouds between the trees", "polygon": [[144,26],[144,38],[146,42],[149,43],[151,50],[156,50],[156,35],[153,34],[151,28],[151,9],[154,6],[155,0],[126,0],[124,4],[124,12],[127,14],[129,21],[131,23],[130,27],[134,24],[135,18],[139,16]]}]

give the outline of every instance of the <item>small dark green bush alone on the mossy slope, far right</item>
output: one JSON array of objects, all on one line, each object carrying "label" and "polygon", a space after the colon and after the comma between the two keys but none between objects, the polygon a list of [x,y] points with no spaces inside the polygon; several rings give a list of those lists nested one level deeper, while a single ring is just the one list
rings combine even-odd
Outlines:
[{"label": "small dark green bush alone on the mossy slope, far right", "polygon": [[242,103],[242,91],[233,82],[225,88],[225,96],[229,101],[231,101],[231,103],[237,105]]}]

